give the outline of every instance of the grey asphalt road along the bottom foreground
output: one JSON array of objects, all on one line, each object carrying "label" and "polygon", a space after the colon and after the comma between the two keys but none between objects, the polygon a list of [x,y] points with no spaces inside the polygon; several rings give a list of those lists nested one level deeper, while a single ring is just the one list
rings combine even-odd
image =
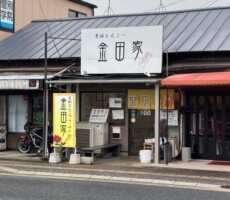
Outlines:
[{"label": "grey asphalt road along the bottom foreground", "polygon": [[1,200],[230,199],[229,192],[0,174]]}]

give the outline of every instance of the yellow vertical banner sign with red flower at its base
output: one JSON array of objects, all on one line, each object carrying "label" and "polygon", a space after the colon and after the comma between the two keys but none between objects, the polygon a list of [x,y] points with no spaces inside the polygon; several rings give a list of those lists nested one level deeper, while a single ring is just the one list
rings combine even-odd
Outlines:
[{"label": "yellow vertical banner sign with red flower at its base", "polygon": [[54,146],[76,146],[76,94],[53,94]]}]

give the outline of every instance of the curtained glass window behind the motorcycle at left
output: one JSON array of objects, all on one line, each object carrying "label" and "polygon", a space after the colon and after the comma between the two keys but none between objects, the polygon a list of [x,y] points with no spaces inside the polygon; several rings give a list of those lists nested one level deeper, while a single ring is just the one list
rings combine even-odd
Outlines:
[{"label": "curtained glass window behind the motorcycle at left", "polygon": [[27,122],[28,96],[8,96],[8,131],[24,132],[24,124]]}]

